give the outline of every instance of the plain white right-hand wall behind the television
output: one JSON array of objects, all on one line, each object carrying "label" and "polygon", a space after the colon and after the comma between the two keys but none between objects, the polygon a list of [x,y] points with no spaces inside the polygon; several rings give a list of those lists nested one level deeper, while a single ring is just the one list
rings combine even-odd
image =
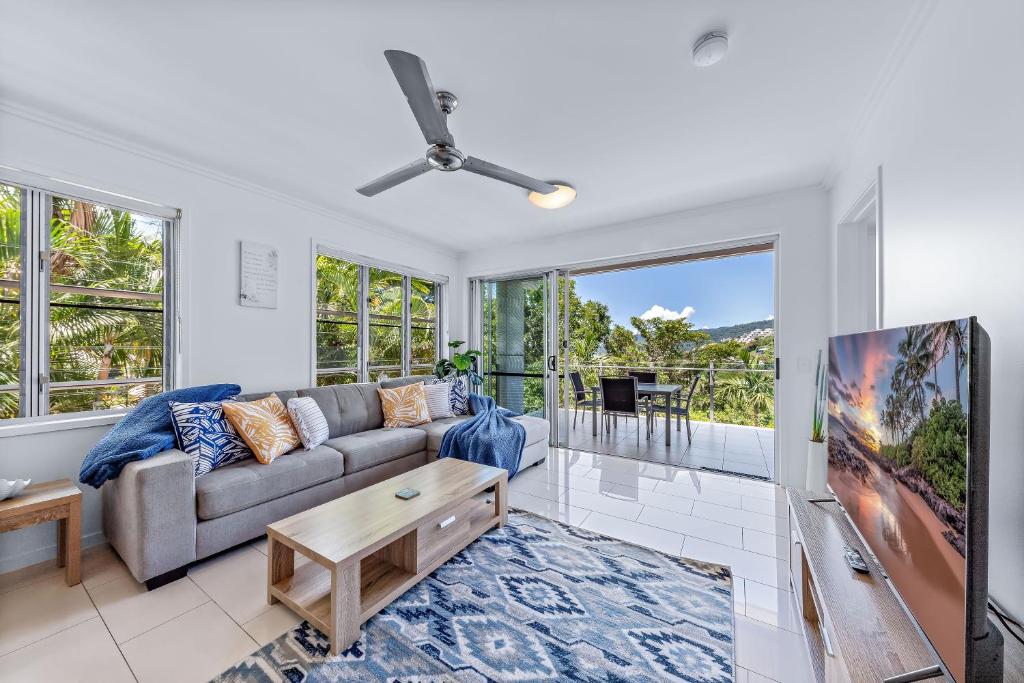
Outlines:
[{"label": "plain white right-hand wall behind the television", "polygon": [[977,315],[992,338],[989,580],[1024,615],[1024,3],[937,3],[831,189],[883,167],[884,325]]}]

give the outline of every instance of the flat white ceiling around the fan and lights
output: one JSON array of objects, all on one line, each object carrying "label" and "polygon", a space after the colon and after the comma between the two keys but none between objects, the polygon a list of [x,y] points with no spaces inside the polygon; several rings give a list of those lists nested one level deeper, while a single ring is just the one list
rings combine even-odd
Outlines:
[{"label": "flat white ceiling around the fan and lights", "polygon": [[[915,9],[892,0],[4,3],[0,96],[460,249],[821,182]],[[726,59],[690,61],[729,33]],[[422,56],[469,173],[354,188],[426,150],[384,59]],[[2,151],[0,151],[2,156]],[[2,161],[2,160],[0,160]]]}]

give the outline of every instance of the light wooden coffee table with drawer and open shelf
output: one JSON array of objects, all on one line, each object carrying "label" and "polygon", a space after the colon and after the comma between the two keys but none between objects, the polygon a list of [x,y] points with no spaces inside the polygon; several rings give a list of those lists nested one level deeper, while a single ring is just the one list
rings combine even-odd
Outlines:
[{"label": "light wooden coffee table with drawer and open shelf", "polygon": [[[490,486],[493,502],[474,499]],[[420,495],[395,498],[400,488]],[[444,458],[266,527],[267,600],[328,635],[338,654],[364,622],[508,519],[508,472]],[[311,561],[295,567],[295,553]]]}]

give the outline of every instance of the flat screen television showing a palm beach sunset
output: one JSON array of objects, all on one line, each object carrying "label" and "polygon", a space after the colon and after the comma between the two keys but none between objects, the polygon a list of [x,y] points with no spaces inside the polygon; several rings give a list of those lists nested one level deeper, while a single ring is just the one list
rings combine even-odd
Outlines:
[{"label": "flat screen television showing a palm beach sunset", "polygon": [[989,366],[974,317],[828,341],[829,488],[957,683],[1001,680],[987,614]]}]

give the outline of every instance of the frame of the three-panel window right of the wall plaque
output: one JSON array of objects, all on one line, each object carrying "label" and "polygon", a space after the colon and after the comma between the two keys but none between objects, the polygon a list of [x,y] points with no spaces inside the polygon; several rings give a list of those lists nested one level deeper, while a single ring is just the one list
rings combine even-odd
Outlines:
[{"label": "frame of the three-panel window right of the wall plaque", "polygon": [[[316,257],[326,256],[354,264],[358,268],[358,310],[356,311],[356,349],[355,366],[337,368],[317,368],[317,334],[316,324],[318,322],[318,301],[317,297],[317,276]],[[323,375],[352,374],[355,375],[356,382],[370,382],[371,371],[386,368],[385,366],[370,365],[370,309],[368,304],[370,288],[370,270],[387,270],[401,275],[402,302],[401,302],[401,376],[407,377],[413,370],[413,344],[412,344],[412,279],[432,282],[435,290],[435,332],[434,332],[434,357],[442,357],[443,349],[447,345],[447,285],[449,278],[432,272],[426,272],[411,268],[398,263],[390,263],[380,259],[362,256],[352,252],[333,247],[323,242],[313,241],[310,258],[310,374],[311,386],[316,386],[317,379]],[[423,364],[417,364],[422,368]]]}]

